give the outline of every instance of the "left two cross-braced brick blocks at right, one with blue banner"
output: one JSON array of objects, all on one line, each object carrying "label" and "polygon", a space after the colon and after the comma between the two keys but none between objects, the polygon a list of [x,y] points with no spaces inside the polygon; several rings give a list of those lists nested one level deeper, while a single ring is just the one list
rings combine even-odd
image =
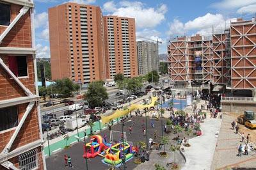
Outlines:
[{"label": "left two cross-braced brick blocks at right, one with blue banner", "polygon": [[173,82],[186,85],[213,79],[212,41],[204,36],[182,36],[168,45],[168,72]]}]

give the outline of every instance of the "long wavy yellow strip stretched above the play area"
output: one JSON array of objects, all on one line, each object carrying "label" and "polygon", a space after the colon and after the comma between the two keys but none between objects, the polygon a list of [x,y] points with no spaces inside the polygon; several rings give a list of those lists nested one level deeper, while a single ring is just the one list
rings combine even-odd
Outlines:
[{"label": "long wavy yellow strip stretched above the play area", "polygon": [[152,97],[151,103],[147,105],[141,105],[141,104],[132,104],[131,107],[127,107],[126,110],[116,110],[113,114],[109,116],[100,116],[102,119],[102,123],[109,123],[112,120],[115,120],[117,118],[121,118],[122,116],[127,115],[129,112],[132,112],[136,109],[145,109],[150,107],[154,107],[156,103],[157,97]]}]

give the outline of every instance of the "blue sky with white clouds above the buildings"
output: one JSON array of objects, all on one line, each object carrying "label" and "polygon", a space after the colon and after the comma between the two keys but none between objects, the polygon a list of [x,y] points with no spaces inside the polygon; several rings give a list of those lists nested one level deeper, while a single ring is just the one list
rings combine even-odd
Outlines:
[{"label": "blue sky with white clouds above the buildings", "polygon": [[[68,0],[34,0],[37,58],[50,58],[48,8]],[[100,6],[103,15],[134,17],[137,40],[159,40],[166,54],[170,38],[211,35],[228,27],[231,19],[256,16],[256,0],[70,0]]]}]

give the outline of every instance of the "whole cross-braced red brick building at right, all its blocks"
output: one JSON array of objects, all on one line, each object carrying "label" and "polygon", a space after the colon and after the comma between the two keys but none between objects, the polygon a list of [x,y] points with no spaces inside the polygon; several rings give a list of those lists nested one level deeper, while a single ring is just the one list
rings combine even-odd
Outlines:
[{"label": "whole cross-braced red brick building at right, all its blocks", "polygon": [[[168,72],[176,85],[222,84],[234,91],[256,87],[256,22],[236,19],[211,37],[181,36],[168,45]],[[246,93],[248,96],[248,94]]]}]

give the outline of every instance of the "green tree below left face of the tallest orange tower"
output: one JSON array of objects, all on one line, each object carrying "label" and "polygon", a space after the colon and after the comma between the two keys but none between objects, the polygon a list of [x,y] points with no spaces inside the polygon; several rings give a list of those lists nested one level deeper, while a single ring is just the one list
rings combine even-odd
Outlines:
[{"label": "green tree below left face of the tallest orange tower", "polygon": [[56,93],[60,94],[62,98],[70,97],[72,95],[72,91],[76,91],[77,88],[79,89],[79,86],[68,78],[56,80],[53,87]]}]

